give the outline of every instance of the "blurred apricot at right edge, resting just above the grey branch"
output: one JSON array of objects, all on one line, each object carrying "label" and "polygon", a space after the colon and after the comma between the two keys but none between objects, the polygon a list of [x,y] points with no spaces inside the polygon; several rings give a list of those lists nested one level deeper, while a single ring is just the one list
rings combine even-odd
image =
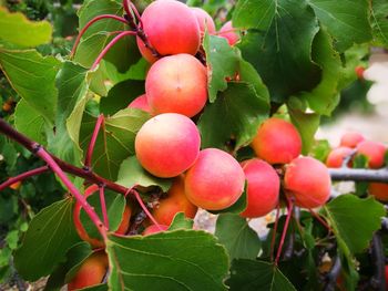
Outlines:
[{"label": "blurred apricot at right edge, resting just above the grey branch", "polygon": [[369,168],[384,166],[386,150],[386,146],[378,142],[364,141],[357,145],[357,154],[368,158]]}]

